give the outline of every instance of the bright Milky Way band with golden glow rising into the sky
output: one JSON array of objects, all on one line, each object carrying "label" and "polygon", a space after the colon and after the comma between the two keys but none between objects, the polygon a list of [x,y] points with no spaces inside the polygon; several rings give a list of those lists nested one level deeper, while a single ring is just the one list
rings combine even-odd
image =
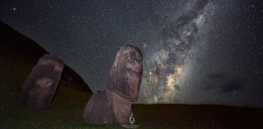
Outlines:
[{"label": "bright Milky Way band with golden glow rising into the sky", "polygon": [[[195,43],[208,1],[186,3],[187,9],[160,31],[161,47],[147,59],[142,92],[150,103],[173,103],[189,50]],[[190,55],[191,56],[191,55]],[[148,69],[149,68],[149,69]],[[143,96],[143,95],[142,95]]]}]

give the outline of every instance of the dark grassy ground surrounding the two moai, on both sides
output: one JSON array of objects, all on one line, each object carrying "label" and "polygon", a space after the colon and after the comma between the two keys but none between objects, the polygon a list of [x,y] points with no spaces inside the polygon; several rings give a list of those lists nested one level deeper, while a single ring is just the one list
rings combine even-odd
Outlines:
[{"label": "dark grassy ground surrounding the two moai, on both sides", "polygon": [[[8,56],[12,56],[9,58]],[[14,55],[0,55],[0,129],[2,128],[123,128],[89,126],[83,109],[90,93],[60,83],[50,109],[26,109],[15,96],[34,64]],[[140,128],[219,129],[263,128],[263,109],[218,105],[133,105]]]}]

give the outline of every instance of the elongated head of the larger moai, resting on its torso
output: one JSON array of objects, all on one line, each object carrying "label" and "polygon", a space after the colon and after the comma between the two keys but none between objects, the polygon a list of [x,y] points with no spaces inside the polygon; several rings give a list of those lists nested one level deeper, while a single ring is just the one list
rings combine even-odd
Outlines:
[{"label": "elongated head of the larger moai, resting on its torso", "polygon": [[117,52],[109,72],[107,88],[128,100],[138,99],[142,81],[142,52],[126,44]]}]

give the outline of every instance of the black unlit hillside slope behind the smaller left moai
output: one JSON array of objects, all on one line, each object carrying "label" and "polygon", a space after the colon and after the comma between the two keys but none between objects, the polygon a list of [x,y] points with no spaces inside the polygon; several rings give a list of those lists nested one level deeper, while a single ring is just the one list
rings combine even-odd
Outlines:
[{"label": "black unlit hillside slope behind the smaller left moai", "polygon": [[[8,64],[3,62],[4,59],[14,62],[27,62],[34,66],[43,54],[48,54],[48,52],[34,42],[34,40],[31,40],[22,35],[22,33],[15,31],[11,26],[8,26],[4,22],[0,22],[0,51],[0,68],[8,67]],[[75,84],[73,85],[74,88],[81,91],[91,92],[83,79],[72,70],[72,68],[65,65],[62,73],[62,82],[67,83],[69,77],[72,77],[72,84]]]}]

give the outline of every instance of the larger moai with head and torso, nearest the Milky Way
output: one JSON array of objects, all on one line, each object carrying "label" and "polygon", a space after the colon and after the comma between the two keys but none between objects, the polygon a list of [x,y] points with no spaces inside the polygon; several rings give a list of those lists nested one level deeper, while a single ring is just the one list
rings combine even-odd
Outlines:
[{"label": "larger moai with head and torso, nearest the Milky Way", "polygon": [[133,101],[142,80],[142,52],[134,45],[123,45],[109,71],[107,87],[91,96],[83,117],[89,124],[129,124]]}]

